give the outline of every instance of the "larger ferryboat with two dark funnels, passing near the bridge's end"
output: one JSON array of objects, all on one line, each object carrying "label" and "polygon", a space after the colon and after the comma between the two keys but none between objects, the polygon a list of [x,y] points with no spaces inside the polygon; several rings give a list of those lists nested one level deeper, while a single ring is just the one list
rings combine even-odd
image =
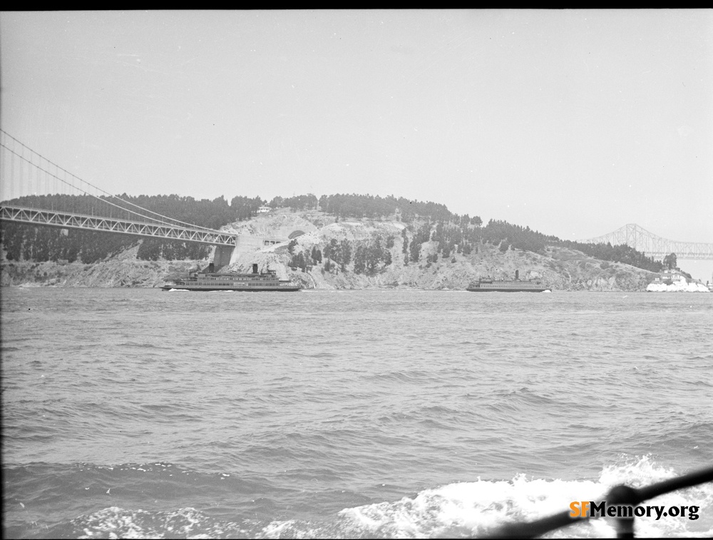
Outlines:
[{"label": "larger ferryboat with two dark funnels, passing near the bridge's end", "polygon": [[163,285],[162,290],[234,290],[245,292],[295,292],[302,289],[290,280],[281,280],[277,277],[276,270],[268,269],[267,272],[258,272],[257,264],[252,265],[252,273],[239,274],[237,272],[215,272],[213,263],[205,270],[192,270],[187,277],[174,280],[173,285]]}]

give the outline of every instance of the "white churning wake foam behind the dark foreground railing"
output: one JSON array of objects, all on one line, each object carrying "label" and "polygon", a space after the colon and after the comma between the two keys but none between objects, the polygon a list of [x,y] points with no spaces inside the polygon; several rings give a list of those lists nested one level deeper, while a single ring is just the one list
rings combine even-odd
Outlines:
[{"label": "white churning wake foam behind the dark foreground railing", "polygon": [[[80,538],[107,534],[123,538],[466,538],[484,536],[511,521],[557,514],[567,510],[571,501],[601,501],[617,484],[647,486],[682,473],[641,457],[605,467],[596,480],[535,479],[518,474],[511,480],[458,482],[425,489],[412,498],[347,508],[325,521],[225,521],[190,507],[144,511],[111,506],[73,520],[72,526],[82,531]],[[674,491],[644,504],[699,506],[699,519],[637,518],[637,536],[707,538],[713,534],[713,484]],[[602,538],[615,537],[616,532],[610,519],[589,519],[550,536]]]}]

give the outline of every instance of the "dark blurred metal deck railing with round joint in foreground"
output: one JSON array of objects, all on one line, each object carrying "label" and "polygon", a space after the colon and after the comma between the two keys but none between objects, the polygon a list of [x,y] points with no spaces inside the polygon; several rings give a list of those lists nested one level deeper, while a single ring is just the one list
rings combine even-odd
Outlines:
[{"label": "dark blurred metal deck railing with round joint in foreground", "polygon": [[[662,482],[657,482],[646,487],[633,488],[625,484],[620,484],[613,487],[607,494],[605,499],[607,506],[636,506],[637,504],[654,499],[657,496],[684,489],[687,487],[697,486],[706,482],[713,482],[713,467],[702,469],[697,472],[684,474],[681,477],[676,477]],[[496,529],[496,531],[483,536],[483,538],[498,539],[498,538],[537,538],[543,534],[547,534],[555,529],[560,529],[575,523],[581,523],[584,519],[590,519],[592,516],[588,514],[584,517],[573,517],[570,510],[547,516],[526,523],[509,523]],[[616,517],[615,529],[617,538],[634,538],[634,516]]]}]

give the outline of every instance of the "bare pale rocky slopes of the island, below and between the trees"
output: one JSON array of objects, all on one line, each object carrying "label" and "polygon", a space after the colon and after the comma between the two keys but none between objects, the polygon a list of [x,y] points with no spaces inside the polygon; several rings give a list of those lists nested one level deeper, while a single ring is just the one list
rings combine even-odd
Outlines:
[{"label": "bare pale rocky slopes of the island, below and between the trees", "polygon": [[[287,243],[274,245],[255,253],[236,254],[230,270],[247,272],[253,263],[261,270],[268,266],[277,270],[280,277],[316,289],[365,289],[381,287],[417,288],[431,290],[463,290],[478,277],[490,275],[513,278],[515,270],[520,279],[539,277],[553,290],[637,291],[646,290],[655,277],[651,272],[620,263],[606,263],[575,250],[548,248],[546,253],[508,250],[501,253],[496,246],[483,244],[478,253],[456,253],[435,263],[426,263],[426,256],[436,252],[435,242],[424,243],[419,263],[404,264],[399,221],[356,221],[334,223],[334,218],[317,210],[293,213],[281,210],[260,215],[247,222],[225,227],[233,233],[251,233],[260,236],[277,234],[279,230],[300,228],[305,234],[297,238],[294,250],[310,253],[313,247],[323,251],[332,238],[347,239],[351,243],[372,238],[394,236],[390,249],[390,265],[383,266],[374,275],[357,274],[353,262],[341,268],[324,269],[324,262],[302,270],[291,270],[288,263],[292,255]],[[309,231],[309,232],[307,232]],[[1,263],[1,285],[38,285],[57,287],[160,287],[167,280],[183,275],[196,265],[205,267],[208,259],[196,261],[144,261],[136,259],[138,247],[120,255],[83,265],[71,263],[11,262]]]}]

